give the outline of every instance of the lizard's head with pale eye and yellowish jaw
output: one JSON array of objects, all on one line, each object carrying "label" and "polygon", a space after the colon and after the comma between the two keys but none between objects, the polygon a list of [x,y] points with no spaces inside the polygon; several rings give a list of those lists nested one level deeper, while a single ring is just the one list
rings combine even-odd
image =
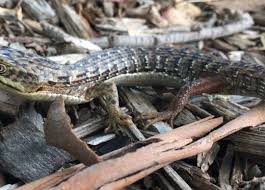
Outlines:
[{"label": "lizard's head with pale eye and yellowish jaw", "polygon": [[0,46],[0,88],[15,94],[36,91],[39,72],[32,61],[35,56]]}]

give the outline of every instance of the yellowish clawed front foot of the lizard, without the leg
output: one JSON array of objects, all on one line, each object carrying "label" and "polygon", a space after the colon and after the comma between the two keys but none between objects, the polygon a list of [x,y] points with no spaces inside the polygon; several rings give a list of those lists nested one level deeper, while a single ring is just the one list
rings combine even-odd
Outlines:
[{"label": "yellowish clawed front foot of the lizard, without the leg", "polygon": [[133,125],[131,116],[120,110],[115,110],[109,114],[108,127],[105,129],[105,132],[114,131],[115,133],[119,133],[121,132],[120,127],[129,127],[131,125]]}]

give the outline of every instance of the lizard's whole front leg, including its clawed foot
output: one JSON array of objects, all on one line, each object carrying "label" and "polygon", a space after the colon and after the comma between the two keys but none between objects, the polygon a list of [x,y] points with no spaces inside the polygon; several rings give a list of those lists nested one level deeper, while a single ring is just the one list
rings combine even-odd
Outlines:
[{"label": "lizard's whole front leg, including its clawed foot", "polygon": [[89,89],[85,98],[91,100],[100,98],[108,112],[108,128],[109,130],[118,130],[118,126],[131,126],[133,124],[131,116],[123,113],[119,107],[119,96],[117,86],[114,83],[102,83]]}]

